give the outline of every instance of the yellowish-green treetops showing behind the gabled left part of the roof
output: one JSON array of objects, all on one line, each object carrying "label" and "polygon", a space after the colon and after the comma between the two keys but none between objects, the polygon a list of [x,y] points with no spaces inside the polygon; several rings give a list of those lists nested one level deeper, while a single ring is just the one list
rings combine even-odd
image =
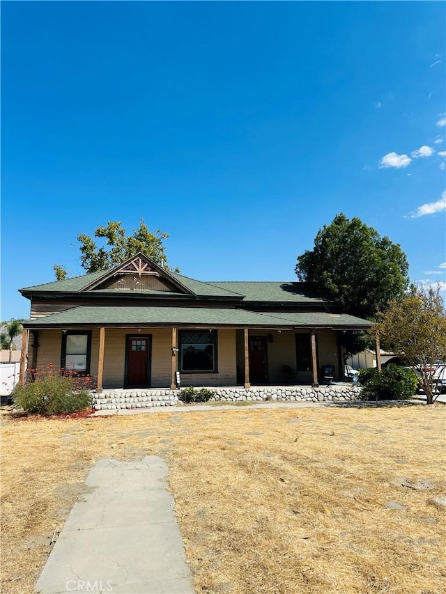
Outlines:
[{"label": "yellowish-green treetops showing behind the gabled left part of the roof", "polygon": [[[141,251],[157,264],[173,272],[179,272],[178,268],[171,269],[167,266],[163,245],[167,237],[169,235],[162,233],[160,229],[149,231],[144,219],[141,219],[139,228],[134,229],[131,235],[120,221],[109,221],[106,226],[95,228],[93,236],[85,233],[77,235],[77,240],[81,244],[81,264],[86,272],[98,272],[112,268]],[[95,238],[103,240],[101,246],[96,244]],[[53,269],[58,281],[66,278],[67,270],[63,266],[55,264]]]}]

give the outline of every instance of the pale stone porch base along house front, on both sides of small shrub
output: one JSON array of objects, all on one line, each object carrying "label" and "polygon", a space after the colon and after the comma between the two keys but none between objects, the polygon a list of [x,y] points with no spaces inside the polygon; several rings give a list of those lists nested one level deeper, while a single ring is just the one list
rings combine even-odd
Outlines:
[{"label": "pale stone porch base along house front, on both sides of small shrub", "polygon": [[[319,386],[252,386],[251,388],[208,388],[213,392],[213,400],[226,402],[261,402],[262,400],[294,400],[297,402],[339,402],[358,400],[360,386],[354,384]],[[95,410],[120,408],[149,408],[175,406],[180,390],[138,389],[104,390],[101,394],[93,393]]]}]

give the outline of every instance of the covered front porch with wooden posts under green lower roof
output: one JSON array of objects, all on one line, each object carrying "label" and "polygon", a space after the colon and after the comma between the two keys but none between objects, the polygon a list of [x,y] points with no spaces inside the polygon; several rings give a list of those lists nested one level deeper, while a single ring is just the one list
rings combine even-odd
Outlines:
[{"label": "covered front porch with wooden posts under green lower roof", "polygon": [[[241,322],[241,323],[240,323]],[[90,375],[104,389],[312,386],[344,379],[348,315],[79,306],[25,323],[28,367]]]}]

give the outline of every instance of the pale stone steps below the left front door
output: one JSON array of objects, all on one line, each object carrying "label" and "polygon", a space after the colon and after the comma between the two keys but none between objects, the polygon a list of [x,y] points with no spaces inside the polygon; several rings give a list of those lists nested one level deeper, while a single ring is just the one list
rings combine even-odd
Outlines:
[{"label": "pale stone steps below the left front door", "polygon": [[104,390],[92,396],[95,410],[175,406],[178,402],[177,390]]}]

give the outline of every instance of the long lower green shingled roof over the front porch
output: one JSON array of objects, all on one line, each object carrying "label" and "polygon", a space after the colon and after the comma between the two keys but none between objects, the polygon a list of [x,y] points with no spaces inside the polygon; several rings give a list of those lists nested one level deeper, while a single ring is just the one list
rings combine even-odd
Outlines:
[{"label": "long lower green shingled roof over the front porch", "polygon": [[120,307],[79,306],[47,315],[31,322],[26,328],[51,328],[70,325],[205,325],[238,327],[357,327],[370,325],[367,320],[352,315],[325,312],[266,314],[244,309],[201,307]]}]

